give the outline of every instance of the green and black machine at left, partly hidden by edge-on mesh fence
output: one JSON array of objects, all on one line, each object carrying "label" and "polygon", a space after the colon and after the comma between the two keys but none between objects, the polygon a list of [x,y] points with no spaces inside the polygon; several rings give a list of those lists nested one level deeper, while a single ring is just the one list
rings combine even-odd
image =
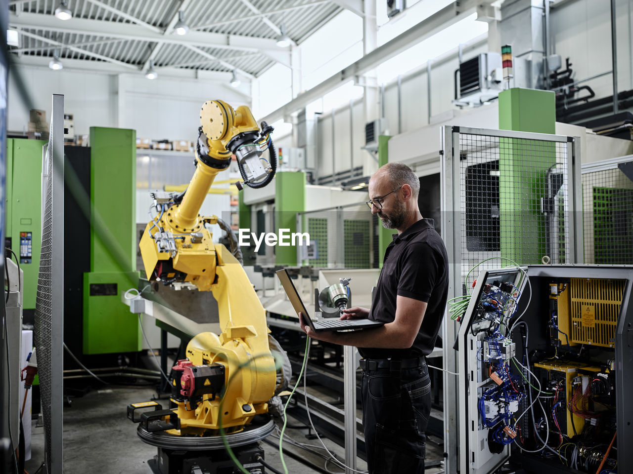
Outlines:
[{"label": "green and black machine at left, partly hidden by edge-on mesh fence", "polygon": [[[24,272],[27,323],[35,319],[44,145],[7,140],[6,245]],[[78,356],[137,352],[138,320],[120,297],[138,281],[135,131],[91,128],[91,145],[65,147],[64,339]]]}]

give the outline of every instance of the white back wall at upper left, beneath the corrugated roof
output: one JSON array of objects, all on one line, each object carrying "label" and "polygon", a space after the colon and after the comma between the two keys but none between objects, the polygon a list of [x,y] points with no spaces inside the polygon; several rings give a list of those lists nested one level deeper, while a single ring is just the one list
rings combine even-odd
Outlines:
[{"label": "white back wall at upper left, beneath the corrugated roof", "polygon": [[[137,137],[196,140],[199,111],[205,100],[222,99],[234,107],[250,105],[242,92],[217,81],[160,76],[148,80],[141,73],[117,76],[34,66],[15,68],[32,108],[46,110],[48,121],[51,95],[65,96],[65,112],[73,115],[77,135],[89,133],[91,126],[104,126],[132,128]],[[17,77],[9,76],[8,130],[26,131],[29,107],[20,97]]]}]

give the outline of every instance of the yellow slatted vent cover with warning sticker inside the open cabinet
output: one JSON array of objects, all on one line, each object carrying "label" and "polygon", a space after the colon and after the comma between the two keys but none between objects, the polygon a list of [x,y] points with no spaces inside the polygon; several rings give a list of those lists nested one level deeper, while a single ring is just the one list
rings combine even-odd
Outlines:
[{"label": "yellow slatted vent cover with warning sticker inside the open cabinet", "polygon": [[[570,343],[609,348],[615,346],[615,326],[622,306],[625,284],[624,280],[571,279],[571,325],[568,332]],[[564,331],[562,327],[561,331]]]}]

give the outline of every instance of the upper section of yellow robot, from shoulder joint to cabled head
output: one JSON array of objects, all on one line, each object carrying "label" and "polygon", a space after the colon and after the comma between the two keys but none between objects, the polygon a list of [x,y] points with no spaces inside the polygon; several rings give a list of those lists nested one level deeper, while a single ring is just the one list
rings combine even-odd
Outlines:
[{"label": "upper section of yellow robot, from shoulder joint to cabled head", "polygon": [[[200,124],[196,172],[184,195],[153,193],[159,214],[147,224],[141,255],[148,280],[189,282],[208,291],[216,277],[216,257],[204,224],[215,224],[217,217],[201,217],[199,210],[215,176],[235,155],[244,184],[259,188],[270,183],[277,161],[270,140],[273,128],[262,122],[260,133],[246,106],[234,110],[222,100],[208,100],[200,111]],[[270,161],[264,166],[260,155],[266,147]]]}]

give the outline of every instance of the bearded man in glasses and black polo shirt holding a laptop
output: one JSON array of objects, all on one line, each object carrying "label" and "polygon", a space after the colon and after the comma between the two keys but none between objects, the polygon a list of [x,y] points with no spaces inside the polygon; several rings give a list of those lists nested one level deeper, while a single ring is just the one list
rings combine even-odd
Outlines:
[{"label": "bearded man in glasses and black polo shirt holding a laptop", "polygon": [[401,163],[380,167],[369,182],[372,214],[397,229],[387,246],[370,309],[354,307],[341,319],[384,322],[377,329],[315,332],[308,336],[358,347],[370,474],[423,473],[430,379],[425,355],[433,350],[448,295],[446,247],[432,219],[418,207],[420,181]]}]

